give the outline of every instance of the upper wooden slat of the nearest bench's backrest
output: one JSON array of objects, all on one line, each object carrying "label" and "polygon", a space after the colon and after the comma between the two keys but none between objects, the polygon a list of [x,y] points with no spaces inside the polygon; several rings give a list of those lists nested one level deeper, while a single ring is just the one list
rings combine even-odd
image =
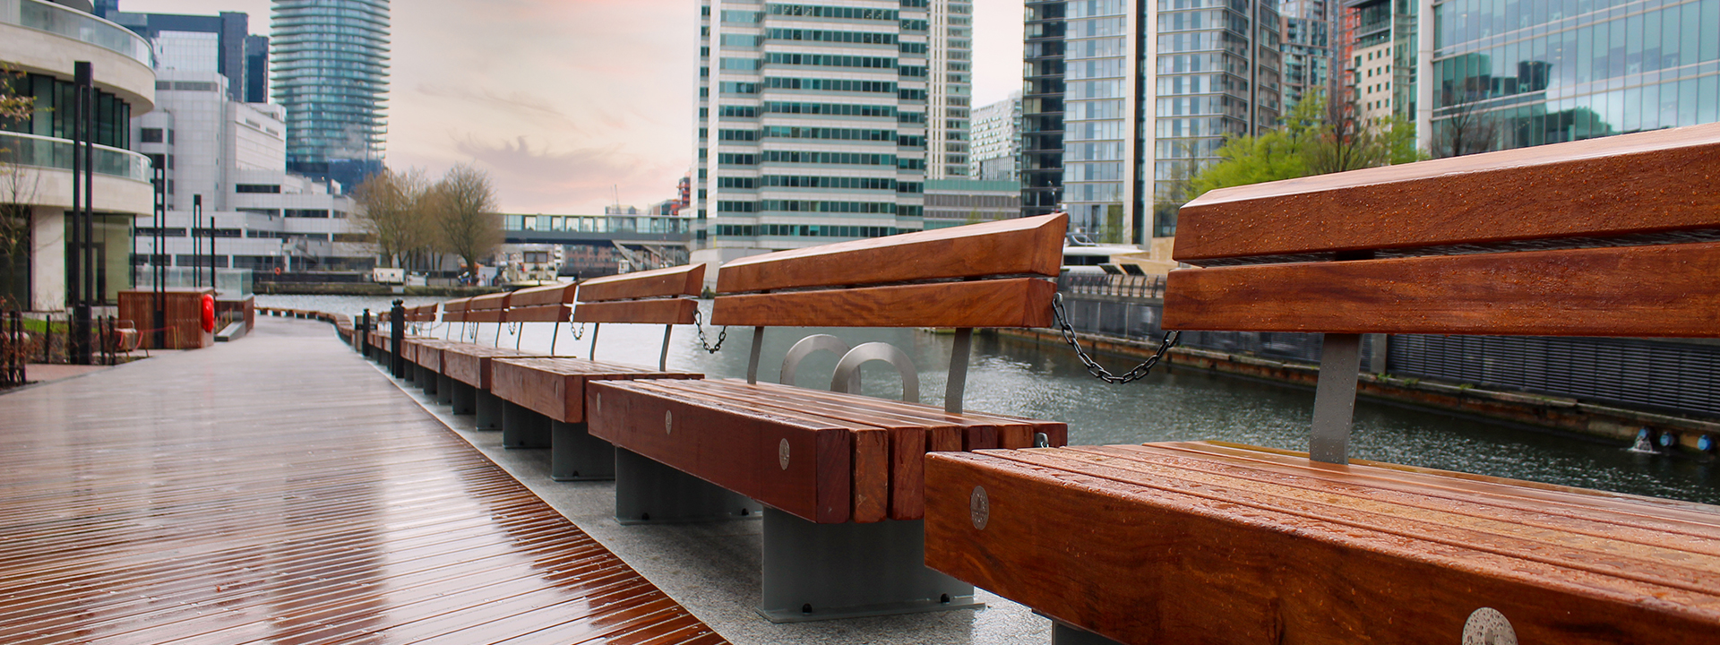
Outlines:
[{"label": "upper wooden slat of the nearest bench's backrest", "polygon": [[1182,206],[1175,258],[1715,229],[1715,184],[1720,124],[1288,179]]}]

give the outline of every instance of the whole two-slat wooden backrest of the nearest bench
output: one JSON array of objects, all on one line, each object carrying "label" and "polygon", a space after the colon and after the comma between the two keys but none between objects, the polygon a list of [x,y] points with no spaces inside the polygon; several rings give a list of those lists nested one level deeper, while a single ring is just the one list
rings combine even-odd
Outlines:
[{"label": "whole two-slat wooden backrest of the nearest bench", "polygon": [[1720,124],[1207,193],[1164,329],[1720,335]]}]

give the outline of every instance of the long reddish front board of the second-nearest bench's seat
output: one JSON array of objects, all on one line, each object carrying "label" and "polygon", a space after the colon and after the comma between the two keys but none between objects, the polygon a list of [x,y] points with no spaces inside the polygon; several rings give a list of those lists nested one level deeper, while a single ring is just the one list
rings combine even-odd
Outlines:
[{"label": "long reddish front board of the second-nearest bench's seat", "polygon": [[[648,380],[587,385],[593,437],[815,523],[850,518],[850,428],[662,396]],[[779,445],[789,459],[781,468]]]}]

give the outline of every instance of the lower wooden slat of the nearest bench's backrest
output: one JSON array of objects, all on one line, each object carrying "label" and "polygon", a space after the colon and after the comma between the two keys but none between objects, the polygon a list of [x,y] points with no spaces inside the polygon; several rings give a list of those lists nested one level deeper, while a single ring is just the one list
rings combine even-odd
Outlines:
[{"label": "lower wooden slat of the nearest bench's backrest", "polygon": [[1720,243],[1183,268],[1164,329],[1720,335]]}]

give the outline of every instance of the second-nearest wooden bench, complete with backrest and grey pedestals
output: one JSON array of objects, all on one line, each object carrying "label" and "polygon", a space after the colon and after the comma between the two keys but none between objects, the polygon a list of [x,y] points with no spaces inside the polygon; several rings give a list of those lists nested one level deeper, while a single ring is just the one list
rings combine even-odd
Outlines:
[{"label": "second-nearest wooden bench, complete with backrest and grey pedestals", "polygon": [[[762,506],[759,612],[771,621],[975,607],[972,585],[924,564],[920,463],[927,451],[1065,442],[1063,423],[961,411],[972,329],[1051,325],[1065,227],[1061,215],[991,222],[722,267],[710,322],[753,327],[745,382],[585,387],[590,433],[616,445],[616,518],[719,519]],[[765,327],[958,329],[944,408],[846,394],[862,363],[886,359],[917,401],[917,370],[888,344],[850,349],[829,335],[789,349],[783,380],[796,378],[800,356],[834,349],[832,389],[845,392],[759,384]]]}]

